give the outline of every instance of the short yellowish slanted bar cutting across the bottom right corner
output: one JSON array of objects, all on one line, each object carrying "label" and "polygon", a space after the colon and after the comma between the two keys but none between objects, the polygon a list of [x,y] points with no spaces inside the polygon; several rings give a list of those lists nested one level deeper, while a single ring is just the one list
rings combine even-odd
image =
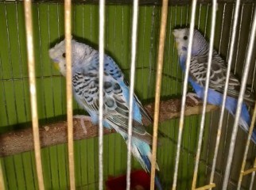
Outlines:
[{"label": "short yellowish slanted bar cutting across the bottom right corner", "polygon": [[[254,131],[254,124],[255,124],[255,119],[256,119],[256,108],[255,108],[255,106],[256,106],[256,104],[254,105],[254,115],[253,115],[253,118],[251,120],[250,130],[249,130],[249,134],[248,134],[247,142],[246,142],[246,149],[244,150],[244,154],[243,154],[243,158],[242,158],[242,167],[241,167],[240,176],[239,176],[238,189],[241,188],[243,172],[244,172],[244,169],[246,167],[246,158],[247,158],[247,154],[248,154],[248,150],[249,150],[249,146],[250,146],[250,137],[251,137],[251,135]],[[256,161],[256,159],[255,159],[255,161]],[[255,166],[255,161],[254,161],[254,166]]]}]

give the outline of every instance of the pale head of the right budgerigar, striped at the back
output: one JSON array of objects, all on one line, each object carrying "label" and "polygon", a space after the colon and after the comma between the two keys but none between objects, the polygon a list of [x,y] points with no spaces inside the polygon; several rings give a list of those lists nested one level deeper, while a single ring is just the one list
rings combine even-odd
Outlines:
[{"label": "pale head of the right budgerigar, striped at the back", "polygon": [[[179,28],[173,30],[175,37],[176,49],[179,55],[187,55],[188,53],[188,38],[189,28]],[[192,55],[200,55],[203,48],[208,49],[208,43],[204,36],[198,31],[194,30],[192,39]]]}]

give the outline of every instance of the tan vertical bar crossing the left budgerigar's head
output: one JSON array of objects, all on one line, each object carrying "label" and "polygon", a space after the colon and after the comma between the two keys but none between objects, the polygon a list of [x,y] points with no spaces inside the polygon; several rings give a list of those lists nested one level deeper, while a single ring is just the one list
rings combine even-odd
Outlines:
[{"label": "tan vertical bar crossing the left budgerigar's head", "polygon": [[73,142],[73,105],[72,105],[72,19],[71,19],[71,0],[64,1],[65,19],[65,49],[66,49],[66,88],[67,88],[67,115],[68,115],[68,166],[70,189],[75,187],[75,164],[74,164],[74,142]]}]

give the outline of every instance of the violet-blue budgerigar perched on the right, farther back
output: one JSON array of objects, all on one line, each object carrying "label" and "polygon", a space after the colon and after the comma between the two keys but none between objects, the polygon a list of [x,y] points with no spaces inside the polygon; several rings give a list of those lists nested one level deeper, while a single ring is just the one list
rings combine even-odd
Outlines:
[{"label": "violet-blue budgerigar perched on the right, farther back", "polygon": [[[188,51],[189,28],[174,29],[173,35],[176,40],[176,49],[179,55],[180,67],[185,70],[185,64]],[[198,31],[193,32],[192,41],[192,57],[189,67],[188,81],[196,92],[196,97],[204,98],[204,86],[206,83],[207,67],[208,67],[208,51],[209,45],[204,36]],[[220,57],[217,51],[213,51],[211,63],[211,76],[208,90],[208,103],[212,105],[222,105],[223,90],[227,76],[226,62]],[[235,116],[238,97],[240,90],[240,82],[235,78],[234,74],[230,75],[229,85],[227,89],[227,101],[225,108],[231,115]],[[254,96],[249,89],[246,89],[244,95],[244,103],[242,104],[242,112],[239,119],[239,126],[244,131],[249,131],[250,114],[246,105],[254,102]],[[251,139],[256,143],[256,131],[254,129]]]}]

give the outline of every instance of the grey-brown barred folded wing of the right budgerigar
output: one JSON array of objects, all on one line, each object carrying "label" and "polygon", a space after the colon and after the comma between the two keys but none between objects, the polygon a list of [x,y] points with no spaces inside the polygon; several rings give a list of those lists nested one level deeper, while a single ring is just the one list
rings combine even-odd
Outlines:
[{"label": "grey-brown barred folded wing of the right budgerigar", "polygon": [[[201,86],[205,86],[206,75],[208,67],[208,55],[192,56],[190,64],[190,76],[193,80],[198,82]],[[227,76],[227,67],[225,61],[218,55],[216,51],[213,52],[213,59],[211,61],[211,74],[209,88],[223,93],[225,88]],[[241,83],[234,74],[230,74],[229,84],[227,88],[227,95],[230,97],[239,97]],[[253,93],[249,89],[246,89],[244,95],[244,101],[246,104],[254,104]]]}]

